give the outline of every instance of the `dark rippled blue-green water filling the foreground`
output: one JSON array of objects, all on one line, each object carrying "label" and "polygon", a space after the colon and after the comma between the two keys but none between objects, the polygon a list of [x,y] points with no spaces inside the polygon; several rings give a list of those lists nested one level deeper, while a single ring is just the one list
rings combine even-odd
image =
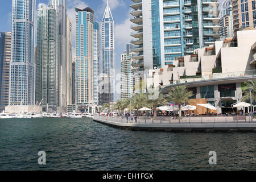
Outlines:
[{"label": "dark rippled blue-green water filling the foreground", "polygon": [[[38,164],[46,151],[46,166]],[[209,165],[209,151],[217,165]],[[150,133],[92,119],[1,119],[0,170],[256,169],[256,133]]]}]

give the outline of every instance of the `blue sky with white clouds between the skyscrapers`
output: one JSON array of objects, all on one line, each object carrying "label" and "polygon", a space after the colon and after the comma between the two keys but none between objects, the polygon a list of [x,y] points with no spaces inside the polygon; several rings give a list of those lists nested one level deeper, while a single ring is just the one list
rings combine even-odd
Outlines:
[{"label": "blue sky with white clouds between the skyscrapers", "polygon": [[[101,22],[104,15],[107,0],[66,0],[67,1],[67,14],[73,22],[73,55],[75,55],[75,9],[80,7],[84,9],[89,6],[94,10],[97,22]],[[48,5],[49,0],[36,0],[36,9],[39,3]],[[131,0],[109,0],[109,6],[112,11],[115,23],[115,75],[116,84],[118,87],[121,53],[126,49],[126,44],[130,42],[130,15],[129,6]],[[11,0],[1,2],[0,6],[0,32],[11,31]],[[117,90],[118,91],[118,90]]]}]

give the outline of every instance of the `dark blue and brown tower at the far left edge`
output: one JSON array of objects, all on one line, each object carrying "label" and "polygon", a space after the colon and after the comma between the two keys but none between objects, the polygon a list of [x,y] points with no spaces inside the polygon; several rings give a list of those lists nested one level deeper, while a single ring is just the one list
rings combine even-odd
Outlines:
[{"label": "dark blue and brown tower at the far left edge", "polygon": [[0,112],[8,105],[11,32],[0,32]]}]

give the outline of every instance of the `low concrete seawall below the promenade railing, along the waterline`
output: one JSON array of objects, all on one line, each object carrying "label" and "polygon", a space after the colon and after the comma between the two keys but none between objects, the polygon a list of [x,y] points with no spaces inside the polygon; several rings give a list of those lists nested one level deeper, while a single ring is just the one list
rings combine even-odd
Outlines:
[{"label": "low concrete seawall below the promenade railing, along the waterline", "polygon": [[255,132],[256,122],[218,122],[218,123],[123,123],[106,121],[104,118],[94,117],[93,121],[111,127],[135,131],[166,131],[166,132]]}]

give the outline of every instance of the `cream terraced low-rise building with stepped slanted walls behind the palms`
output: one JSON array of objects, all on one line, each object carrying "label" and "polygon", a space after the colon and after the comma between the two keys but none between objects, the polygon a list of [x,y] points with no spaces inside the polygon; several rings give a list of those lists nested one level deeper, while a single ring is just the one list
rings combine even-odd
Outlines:
[{"label": "cream terraced low-rise building with stepped slanted walls behind the palms", "polygon": [[245,82],[256,76],[255,64],[256,30],[248,28],[233,38],[214,42],[213,46],[196,49],[192,55],[177,57],[163,68],[150,70],[147,86],[160,86],[167,94],[176,85],[186,85],[195,94],[195,101],[212,104],[218,114],[233,113],[237,109],[232,104],[241,102]]}]

